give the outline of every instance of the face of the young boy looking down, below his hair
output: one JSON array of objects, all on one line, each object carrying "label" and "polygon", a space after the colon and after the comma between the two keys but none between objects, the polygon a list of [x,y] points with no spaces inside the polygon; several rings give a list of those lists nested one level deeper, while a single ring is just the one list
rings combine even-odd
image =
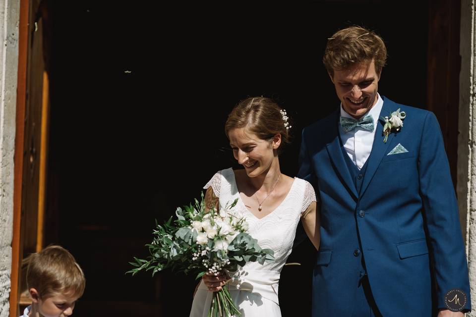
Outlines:
[{"label": "face of the young boy looking down, below his hair", "polygon": [[38,312],[43,317],[67,317],[73,314],[74,305],[78,297],[65,294],[56,294],[48,298],[33,298]]}]

